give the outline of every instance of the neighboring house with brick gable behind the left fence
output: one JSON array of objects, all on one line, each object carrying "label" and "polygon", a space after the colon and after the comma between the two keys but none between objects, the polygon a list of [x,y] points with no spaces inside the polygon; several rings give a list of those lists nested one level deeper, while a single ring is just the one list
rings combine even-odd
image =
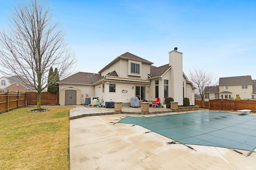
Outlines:
[{"label": "neighboring house with brick gable behind the left fence", "polygon": [[37,92],[34,87],[31,87],[28,80],[18,78],[18,76],[1,77],[0,91],[2,92]]}]

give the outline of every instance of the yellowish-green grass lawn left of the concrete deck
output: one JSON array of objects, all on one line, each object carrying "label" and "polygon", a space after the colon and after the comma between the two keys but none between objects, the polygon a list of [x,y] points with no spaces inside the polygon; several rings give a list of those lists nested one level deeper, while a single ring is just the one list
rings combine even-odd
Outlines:
[{"label": "yellowish-green grass lawn left of the concrete deck", "polygon": [[69,170],[69,110],[0,114],[0,169]]}]

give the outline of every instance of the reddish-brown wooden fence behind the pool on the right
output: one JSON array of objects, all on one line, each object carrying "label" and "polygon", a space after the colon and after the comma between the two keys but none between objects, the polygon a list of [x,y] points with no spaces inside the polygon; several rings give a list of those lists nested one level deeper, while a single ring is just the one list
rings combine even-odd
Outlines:
[{"label": "reddish-brown wooden fence behind the pool on the right", "polygon": [[[201,101],[196,100],[195,105],[201,107]],[[204,101],[204,108],[209,110],[226,110],[226,111],[236,111],[249,109],[253,113],[256,113],[256,100],[228,100],[228,99],[215,99]]]}]

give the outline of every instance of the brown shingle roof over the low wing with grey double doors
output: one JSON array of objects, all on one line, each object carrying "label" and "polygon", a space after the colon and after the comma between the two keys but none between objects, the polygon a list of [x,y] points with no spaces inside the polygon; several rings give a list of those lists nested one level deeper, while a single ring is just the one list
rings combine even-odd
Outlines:
[{"label": "brown shingle roof over the low wing with grey double doors", "polygon": [[88,73],[88,72],[77,72],[63,80],[60,80],[59,83],[68,83],[68,84],[93,84],[97,82],[101,77],[100,74]]}]

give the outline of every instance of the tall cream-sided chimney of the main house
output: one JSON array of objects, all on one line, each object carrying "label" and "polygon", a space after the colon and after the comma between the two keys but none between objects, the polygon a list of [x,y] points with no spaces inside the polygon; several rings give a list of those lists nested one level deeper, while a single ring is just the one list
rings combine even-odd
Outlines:
[{"label": "tall cream-sided chimney of the main house", "polygon": [[183,71],[182,71],[182,53],[171,51],[169,53],[169,65],[171,68],[171,94],[173,94],[174,102],[183,105]]}]

